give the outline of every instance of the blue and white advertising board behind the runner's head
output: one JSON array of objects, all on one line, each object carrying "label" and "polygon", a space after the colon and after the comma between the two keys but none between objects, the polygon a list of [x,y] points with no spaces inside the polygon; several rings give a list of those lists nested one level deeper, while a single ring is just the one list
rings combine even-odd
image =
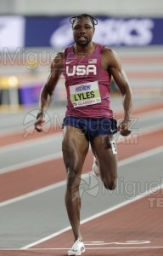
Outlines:
[{"label": "blue and white advertising board behind the runner's head", "polygon": [[[73,43],[70,17],[0,17],[0,51],[18,47],[62,49]],[[163,18],[97,16],[93,40],[108,46],[163,44]]]}]

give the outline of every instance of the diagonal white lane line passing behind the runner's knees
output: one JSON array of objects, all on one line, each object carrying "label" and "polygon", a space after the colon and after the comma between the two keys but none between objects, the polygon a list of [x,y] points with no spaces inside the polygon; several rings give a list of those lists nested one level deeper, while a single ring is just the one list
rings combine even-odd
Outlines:
[{"label": "diagonal white lane line passing behind the runner's knees", "polygon": [[[138,161],[138,160],[143,160],[145,158],[148,158],[152,155],[155,155],[155,154],[160,154],[163,152],[163,146],[161,147],[158,147],[158,148],[154,148],[154,149],[151,149],[149,151],[146,151],[145,153],[142,153],[142,154],[137,154],[137,155],[134,155],[134,156],[131,156],[129,158],[126,158],[125,160],[120,160],[119,161],[119,167],[121,166],[126,166],[126,165],[129,165],[131,164],[132,162],[135,162],[135,161]],[[86,178],[87,177],[87,174],[90,173],[90,174],[93,174],[93,172],[87,172],[87,173],[84,173],[82,174],[82,178]],[[56,188],[59,188],[61,186],[64,186],[66,184],[65,181],[61,181],[59,183],[54,183],[52,185],[49,185],[47,187],[44,187],[42,189],[37,189],[35,191],[32,191],[30,193],[27,193],[25,195],[20,195],[20,196],[17,196],[17,197],[14,197],[13,199],[9,199],[8,201],[3,201],[0,203],[0,207],[4,207],[4,206],[7,206],[9,204],[12,204],[12,203],[15,203],[17,201],[22,201],[22,200],[25,200],[31,196],[35,196],[35,195],[40,195],[42,193],[45,193],[45,192],[48,192],[50,190],[53,190],[53,189],[56,189]],[[158,188],[160,189],[160,188]],[[143,196],[146,195],[146,192],[144,192]],[[147,194],[148,195],[148,194]],[[142,195],[141,195],[142,196]]]}]

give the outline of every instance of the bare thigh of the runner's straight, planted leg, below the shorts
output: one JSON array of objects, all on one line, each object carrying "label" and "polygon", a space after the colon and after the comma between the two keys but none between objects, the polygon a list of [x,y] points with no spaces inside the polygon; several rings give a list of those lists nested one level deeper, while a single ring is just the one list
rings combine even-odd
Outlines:
[{"label": "bare thigh of the runner's straight, planted leg, below the shorts", "polygon": [[70,125],[64,127],[62,150],[67,169],[71,172],[82,172],[88,148],[89,143],[80,129]]}]

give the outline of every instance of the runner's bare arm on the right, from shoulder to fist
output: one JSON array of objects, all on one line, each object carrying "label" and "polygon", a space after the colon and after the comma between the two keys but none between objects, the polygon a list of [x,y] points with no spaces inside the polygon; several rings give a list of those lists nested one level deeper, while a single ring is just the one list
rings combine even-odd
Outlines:
[{"label": "runner's bare arm on the right, from shoulder to fist", "polygon": [[132,117],[132,89],[126,73],[121,67],[120,58],[114,50],[104,49],[102,60],[104,60],[104,65],[107,65],[108,72],[113,76],[123,96],[124,119],[118,128],[122,136],[127,136],[131,132],[129,131],[129,125]]}]

